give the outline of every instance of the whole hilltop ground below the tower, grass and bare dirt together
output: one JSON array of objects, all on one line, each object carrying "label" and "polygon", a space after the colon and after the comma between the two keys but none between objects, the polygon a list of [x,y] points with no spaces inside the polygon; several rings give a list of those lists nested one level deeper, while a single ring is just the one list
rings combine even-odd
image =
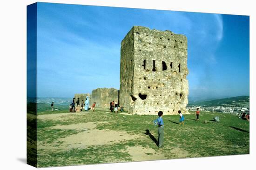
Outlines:
[{"label": "whole hilltop ground below the tower, grass and bare dirt together", "polygon": [[178,115],[164,115],[161,149],[155,144],[156,118],[109,113],[107,108],[38,113],[38,166],[249,154],[249,122],[235,115],[202,112],[197,122],[193,113],[185,115],[185,126],[178,125]]}]

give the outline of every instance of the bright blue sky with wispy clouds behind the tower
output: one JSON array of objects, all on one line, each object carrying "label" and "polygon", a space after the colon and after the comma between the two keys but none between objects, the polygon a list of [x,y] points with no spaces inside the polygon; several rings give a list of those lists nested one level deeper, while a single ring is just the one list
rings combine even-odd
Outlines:
[{"label": "bright blue sky with wispy clouds behind the tower", "polygon": [[249,16],[38,3],[37,94],[119,89],[121,40],[134,25],[188,38],[189,98],[249,95]]}]

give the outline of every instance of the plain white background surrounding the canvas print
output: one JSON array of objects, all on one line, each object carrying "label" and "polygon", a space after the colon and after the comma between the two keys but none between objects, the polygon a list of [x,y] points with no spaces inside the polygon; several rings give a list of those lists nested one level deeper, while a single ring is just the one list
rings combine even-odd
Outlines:
[{"label": "plain white background surrounding the canvas print", "polygon": [[[6,0],[0,4],[0,169],[32,170],[26,164],[26,6],[35,0]],[[187,158],[163,161],[146,161],[119,164],[96,164],[55,167],[58,170],[216,170],[252,169],[255,165],[255,125],[252,103],[255,103],[255,9],[250,0],[44,0],[43,2],[84,4],[97,6],[118,6],[146,9],[164,9],[204,13],[225,13],[250,16],[250,154],[240,156]],[[254,32],[253,32],[254,30]],[[5,109],[13,103],[12,110]],[[46,168],[42,168],[44,170]],[[47,168],[48,169],[48,168]]]}]

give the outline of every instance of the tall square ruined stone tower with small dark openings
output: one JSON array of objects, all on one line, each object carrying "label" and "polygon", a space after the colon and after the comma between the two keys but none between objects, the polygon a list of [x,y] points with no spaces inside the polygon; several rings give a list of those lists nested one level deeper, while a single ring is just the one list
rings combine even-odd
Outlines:
[{"label": "tall square ruined stone tower with small dark openings", "polygon": [[132,114],[188,113],[187,38],[134,26],[121,42],[120,105]]}]

